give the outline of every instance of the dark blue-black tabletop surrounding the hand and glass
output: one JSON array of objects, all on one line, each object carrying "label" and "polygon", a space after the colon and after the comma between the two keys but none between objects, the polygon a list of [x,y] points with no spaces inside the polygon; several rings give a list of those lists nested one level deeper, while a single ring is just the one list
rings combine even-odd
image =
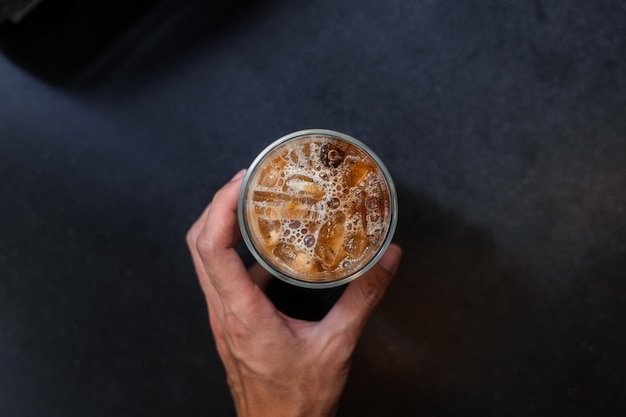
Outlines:
[{"label": "dark blue-black tabletop surrounding the hand and glass", "polygon": [[624,3],[218,3],[0,27],[0,415],[233,415],[184,236],[311,127],[386,162],[405,250],[339,415],[623,415]]}]

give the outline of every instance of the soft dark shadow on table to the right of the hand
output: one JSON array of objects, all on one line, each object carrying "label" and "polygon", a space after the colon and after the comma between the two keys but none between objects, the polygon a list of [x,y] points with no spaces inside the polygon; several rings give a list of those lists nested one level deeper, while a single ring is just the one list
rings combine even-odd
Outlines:
[{"label": "soft dark shadow on table to the right of the hand", "polygon": [[524,272],[479,227],[401,186],[399,199],[403,261],[357,347],[339,414],[465,414],[498,395],[489,390],[529,300]]}]

